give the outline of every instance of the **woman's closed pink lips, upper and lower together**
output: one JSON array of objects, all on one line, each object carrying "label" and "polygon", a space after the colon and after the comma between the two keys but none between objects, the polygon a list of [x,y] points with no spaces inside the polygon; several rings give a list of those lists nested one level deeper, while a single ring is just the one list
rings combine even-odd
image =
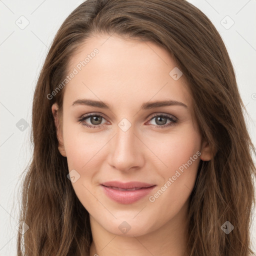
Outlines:
[{"label": "woman's closed pink lips, upper and lower together", "polygon": [[156,185],[138,181],[126,183],[108,181],[100,184],[100,186],[103,188],[104,193],[112,200],[122,204],[130,204],[147,195]]}]

